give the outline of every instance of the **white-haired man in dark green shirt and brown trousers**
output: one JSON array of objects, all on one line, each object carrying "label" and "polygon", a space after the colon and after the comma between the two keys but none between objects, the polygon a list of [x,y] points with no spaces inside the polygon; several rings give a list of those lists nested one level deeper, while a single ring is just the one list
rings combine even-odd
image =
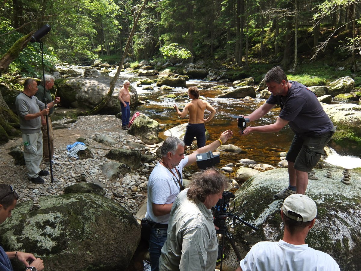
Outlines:
[{"label": "white-haired man in dark green shirt and brown trousers", "polygon": [[[54,86],[55,78],[49,74],[45,74],[45,89],[43,85],[38,86],[38,91],[35,93],[36,98],[40,102],[43,103],[53,103],[56,104],[60,102],[60,97],[54,97],[54,100],[52,96],[50,95],[50,89]],[[45,100],[46,99],[46,100]],[[46,117],[42,116],[42,133],[43,133],[43,156],[45,164],[49,164],[50,161],[53,165],[57,165],[58,162],[54,161],[53,158],[56,158],[54,156],[54,136],[53,136],[53,126],[51,125],[51,119],[50,115],[53,113],[54,107],[49,109],[49,115],[48,115],[48,122],[49,122],[49,142],[50,142],[50,155],[51,158],[49,158],[49,148],[48,148],[48,131],[46,126]]]}]

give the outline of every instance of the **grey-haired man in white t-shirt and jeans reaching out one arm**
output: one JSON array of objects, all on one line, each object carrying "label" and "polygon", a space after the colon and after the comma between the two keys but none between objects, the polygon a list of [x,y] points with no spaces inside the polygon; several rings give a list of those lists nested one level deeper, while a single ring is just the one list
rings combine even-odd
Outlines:
[{"label": "grey-haired man in white t-shirt and jeans reaching out one arm", "polygon": [[145,219],[153,223],[149,239],[152,271],[158,270],[161,249],[167,239],[170,210],[183,186],[183,168],[196,162],[197,154],[216,150],[231,138],[232,134],[231,130],[227,130],[216,141],[186,156],[184,156],[184,142],[181,139],[168,137],[163,142],[160,149],[162,158],[149,176],[147,213],[145,214]]}]

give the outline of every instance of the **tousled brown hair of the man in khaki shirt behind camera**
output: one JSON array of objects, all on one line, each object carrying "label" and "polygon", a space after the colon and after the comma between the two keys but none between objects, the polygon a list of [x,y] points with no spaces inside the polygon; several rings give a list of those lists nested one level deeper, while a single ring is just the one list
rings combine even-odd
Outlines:
[{"label": "tousled brown hair of the man in khaki shirt behind camera", "polygon": [[226,176],[221,174],[217,168],[208,168],[193,176],[187,196],[194,202],[204,202],[208,195],[220,193],[226,185]]}]

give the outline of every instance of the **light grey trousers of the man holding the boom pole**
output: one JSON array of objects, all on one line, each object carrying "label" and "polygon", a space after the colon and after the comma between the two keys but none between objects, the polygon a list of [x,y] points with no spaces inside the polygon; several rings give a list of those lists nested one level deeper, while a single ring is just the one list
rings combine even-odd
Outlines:
[{"label": "light grey trousers of the man holding the boom pole", "polygon": [[39,165],[43,158],[43,133],[22,134],[23,143],[28,142],[29,146],[24,146],[24,160],[27,168],[28,177],[36,178],[40,172]]}]

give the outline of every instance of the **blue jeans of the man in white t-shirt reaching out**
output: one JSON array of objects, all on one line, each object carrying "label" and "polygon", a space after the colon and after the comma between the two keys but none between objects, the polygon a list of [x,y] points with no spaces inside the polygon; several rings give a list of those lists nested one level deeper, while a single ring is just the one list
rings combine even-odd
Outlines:
[{"label": "blue jeans of the man in white t-shirt reaching out", "polygon": [[149,258],[151,259],[152,271],[158,271],[160,251],[167,239],[167,229],[151,229],[149,238]]}]

